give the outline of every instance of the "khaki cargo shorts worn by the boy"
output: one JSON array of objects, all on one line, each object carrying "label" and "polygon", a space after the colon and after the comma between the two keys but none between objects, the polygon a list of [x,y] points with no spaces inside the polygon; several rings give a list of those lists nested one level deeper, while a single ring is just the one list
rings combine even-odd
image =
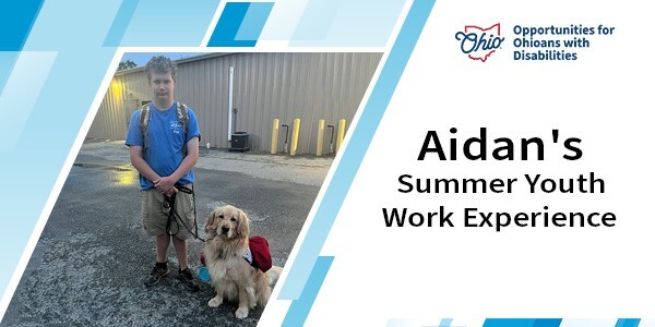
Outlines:
[{"label": "khaki cargo shorts worn by the boy", "polygon": [[[184,185],[191,189],[192,185]],[[168,232],[180,240],[187,240],[195,232],[195,213],[193,213],[193,194],[178,192],[175,196],[175,210],[179,218],[170,221]],[[165,202],[164,194],[157,189],[141,191],[141,218],[143,228],[150,237],[158,237],[167,232],[166,226],[170,205]],[[181,221],[180,221],[181,219]],[[182,223],[183,222],[183,223]]]}]

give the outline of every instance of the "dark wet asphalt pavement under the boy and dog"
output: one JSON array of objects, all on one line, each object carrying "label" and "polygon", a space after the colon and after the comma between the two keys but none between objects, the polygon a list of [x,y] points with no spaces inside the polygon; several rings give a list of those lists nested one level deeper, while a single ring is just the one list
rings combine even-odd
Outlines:
[{"label": "dark wet asphalt pavement under the boy and dog", "polygon": [[[201,149],[195,166],[200,237],[210,211],[235,205],[249,216],[251,235],[269,240],[285,266],[333,157]],[[154,240],[143,232],[139,174],[122,142],[87,140],[38,240],[0,326],[255,326],[257,307],[237,319],[236,303],[212,308],[209,283],[188,292],[171,274],[146,288]],[[189,241],[198,271],[203,242]]]}]

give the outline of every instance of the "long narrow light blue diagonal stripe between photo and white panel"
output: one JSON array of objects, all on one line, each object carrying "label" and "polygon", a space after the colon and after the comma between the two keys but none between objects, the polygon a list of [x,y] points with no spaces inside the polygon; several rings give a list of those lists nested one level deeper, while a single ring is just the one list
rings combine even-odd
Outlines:
[{"label": "long narrow light blue diagonal stripe between photo and white panel", "polygon": [[334,219],[348,193],[361,159],[378,129],[384,110],[386,110],[391,96],[433,5],[434,0],[417,0],[412,4],[407,19],[380,73],[378,84],[361,112],[357,128],[350,137],[350,143],[344,149],[343,158],[307,231],[305,241],[279,292],[279,299],[296,300],[300,296],[302,288],[307,287],[306,284],[311,286],[314,282],[311,279],[308,280],[314,262],[321,247],[323,247],[323,243],[325,243]]}]

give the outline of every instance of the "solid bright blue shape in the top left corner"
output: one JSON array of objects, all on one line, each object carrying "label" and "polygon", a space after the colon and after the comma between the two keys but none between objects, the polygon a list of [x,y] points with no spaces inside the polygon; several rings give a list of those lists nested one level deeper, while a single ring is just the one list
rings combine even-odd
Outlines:
[{"label": "solid bright blue shape in the top left corner", "polygon": [[44,0],[0,2],[0,51],[20,51],[40,11]]}]

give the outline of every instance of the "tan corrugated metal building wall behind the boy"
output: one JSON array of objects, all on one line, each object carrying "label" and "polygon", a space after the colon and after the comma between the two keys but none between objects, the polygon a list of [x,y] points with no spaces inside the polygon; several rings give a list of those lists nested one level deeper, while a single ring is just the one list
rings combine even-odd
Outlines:
[{"label": "tan corrugated metal building wall behind the boy", "polygon": [[[228,148],[228,81],[234,66],[233,132],[249,134],[250,149],[269,152],[273,119],[289,125],[301,120],[298,154],[314,154],[319,119],[349,126],[381,53],[209,53],[178,60],[176,99],[193,108],[201,145]],[[87,137],[124,140],[129,117],[152,98],[143,69],[115,75]],[[323,153],[330,149],[325,130]],[[279,130],[278,152],[285,129]]]}]

